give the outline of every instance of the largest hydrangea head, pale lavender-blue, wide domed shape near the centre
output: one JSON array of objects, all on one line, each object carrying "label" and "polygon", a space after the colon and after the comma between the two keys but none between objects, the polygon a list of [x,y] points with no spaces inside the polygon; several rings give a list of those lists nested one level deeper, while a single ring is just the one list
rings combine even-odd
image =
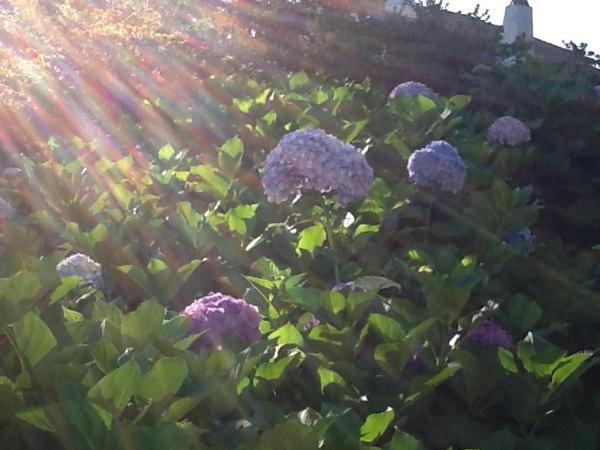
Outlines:
[{"label": "largest hydrangea head, pale lavender-blue, wide domed shape near the centre", "polygon": [[308,189],[346,206],[364,199],[372,183],[373,169],[355,147],[316,129],[286,134],[267,156],[262,178],[275,203]]}]

